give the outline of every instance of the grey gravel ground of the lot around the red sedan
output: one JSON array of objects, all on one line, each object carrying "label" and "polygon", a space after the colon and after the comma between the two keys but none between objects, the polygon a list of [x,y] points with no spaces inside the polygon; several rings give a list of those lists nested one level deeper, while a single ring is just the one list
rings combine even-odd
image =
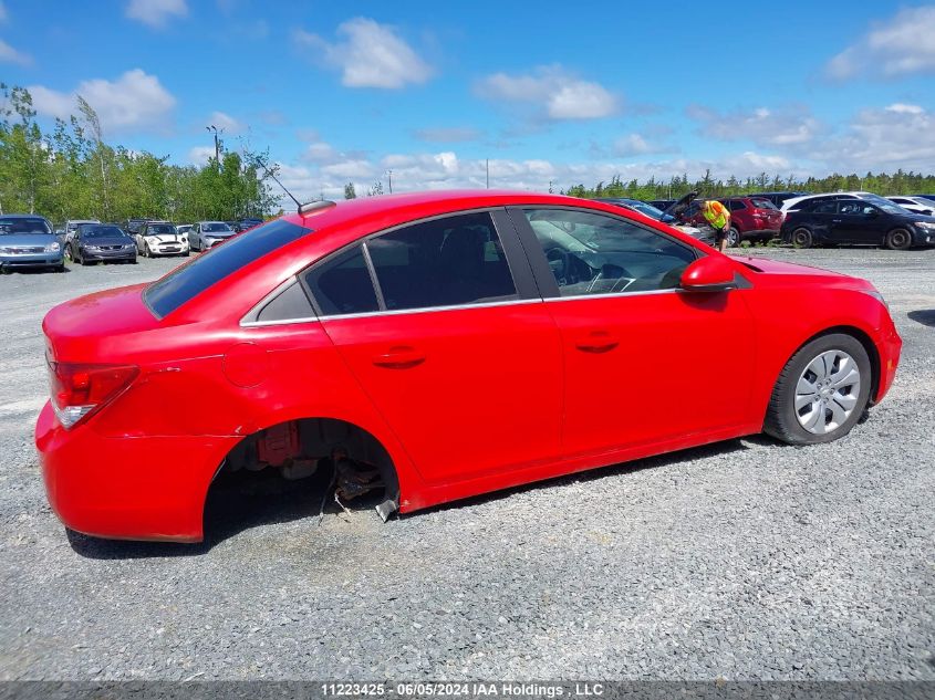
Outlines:
[{"label": "grey gravel ground of the lot around the red sedan", "polygon": [[204,545],[71,540],[31,443],[39,322],[177,261],[0,278],[2,679],[935,679],[935,251],[869,278],[905,345],[846,439],[734,440],[381,524],[245,498]]}]

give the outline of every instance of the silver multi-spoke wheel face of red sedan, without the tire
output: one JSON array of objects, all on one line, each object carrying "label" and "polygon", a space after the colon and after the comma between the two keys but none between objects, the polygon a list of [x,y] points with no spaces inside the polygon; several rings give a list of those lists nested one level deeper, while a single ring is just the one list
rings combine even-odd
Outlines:
[{"label": "silver multi-spoke wheel face of red sedan, without the tire", "polygon": [[813,435],[844,425],[858,404],[861,373],[848,353],[831,349],[806,366],[796,385],[796,418]]}]

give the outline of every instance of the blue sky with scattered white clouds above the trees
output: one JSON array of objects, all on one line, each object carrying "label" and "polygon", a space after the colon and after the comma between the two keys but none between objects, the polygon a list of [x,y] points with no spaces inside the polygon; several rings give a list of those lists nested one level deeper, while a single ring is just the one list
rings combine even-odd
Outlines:
[{"label": "blue sky with scattered white clouds above the trees", "polygon": [[0,0],[0,81],[179,165],[214,125],[303,200],[935,173],[932,3]]}]

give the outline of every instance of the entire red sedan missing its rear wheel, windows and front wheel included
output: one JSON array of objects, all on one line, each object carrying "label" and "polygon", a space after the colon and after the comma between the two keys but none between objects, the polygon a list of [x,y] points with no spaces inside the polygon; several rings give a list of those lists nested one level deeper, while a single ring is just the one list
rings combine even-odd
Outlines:
[{"label": "entire red sedan missing its rear wheel, windows and front wheel included", "polygon": [[302,209],[46,315],[35,442],[66,526],[196,542],[240,469],[378,483],[385,518],[760,431],[825,442],[896,372],[869,282],[731,259],[611,205]]}]

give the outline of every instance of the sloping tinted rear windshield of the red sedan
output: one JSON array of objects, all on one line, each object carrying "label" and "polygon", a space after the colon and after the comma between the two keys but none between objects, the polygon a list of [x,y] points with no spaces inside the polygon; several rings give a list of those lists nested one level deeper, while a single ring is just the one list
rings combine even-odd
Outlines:
[{"label": "sloping tinted rear windshield of the red sedan", "polygon": [[146,288],[143,300],[162,318],[243,265],[310,232],[311,229],[282,219],[258,226],[154,282]]}]

